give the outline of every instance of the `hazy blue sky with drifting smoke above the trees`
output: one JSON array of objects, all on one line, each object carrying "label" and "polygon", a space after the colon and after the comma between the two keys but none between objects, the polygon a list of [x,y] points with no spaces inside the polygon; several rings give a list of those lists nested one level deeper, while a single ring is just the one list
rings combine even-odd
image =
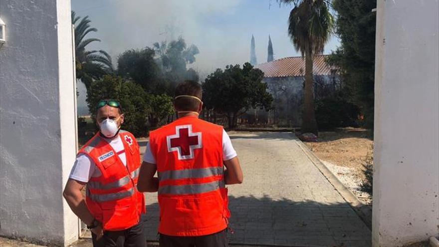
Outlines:
[{"label": "hazy blue sky with drifting smoke above the trees", "polygon": [[[202,78],[216,68],[249,61],[251,35],[258,63],[266,62],[268,35],[275,59],[300,55],[287,34],[292,7],[279,6],[276,0],[71,0],[71,4],[77,15],[88,15],[98,29],[87,37],[101,42],[88,49],[106,50],[115,65],[127,49],[152,47],[179,36],[198,46],[200,53],[190,67]],[[332,37],[324,53],[338,45],[338,38]],[[83,98],[83,88],[79,90]]]}]

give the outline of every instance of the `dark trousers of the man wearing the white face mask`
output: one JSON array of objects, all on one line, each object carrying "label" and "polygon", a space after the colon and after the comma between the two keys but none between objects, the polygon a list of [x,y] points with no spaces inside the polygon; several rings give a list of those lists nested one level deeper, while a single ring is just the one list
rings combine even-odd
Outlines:
[{"label": "dark trousers of the man wearing the white face mask", "polygon": [[91,233],[91,237],[93,247],[146,247],[142,222],[123,231],[105,231],[98,241],[95,234]]}]

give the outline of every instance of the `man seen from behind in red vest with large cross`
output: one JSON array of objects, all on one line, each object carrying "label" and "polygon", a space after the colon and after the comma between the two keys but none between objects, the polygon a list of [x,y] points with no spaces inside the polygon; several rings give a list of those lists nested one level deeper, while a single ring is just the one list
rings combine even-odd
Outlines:
[{"label": "man seen from behind in red vest with large cross", "polygon": [[197,82],[176,87],[179,118],[150,133],[140,169],[139,191],[158,191],[161,247],[228,246],[225,185],[240,184],[243,176],[222,126],[198,118],[201,99]]}]

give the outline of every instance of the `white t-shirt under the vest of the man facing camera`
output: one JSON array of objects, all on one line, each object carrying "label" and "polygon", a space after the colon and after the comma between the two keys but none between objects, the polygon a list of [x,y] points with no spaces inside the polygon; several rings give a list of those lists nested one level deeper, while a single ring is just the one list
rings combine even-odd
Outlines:
[{"label": "white t-shirt under the vest of the man facing camera", "polygon": [[[113,139],[103,138],[116,151],[122,163],[127,166],[127,158],[125,156],[125,148],[119,135]],[[76,156],[75,164],[70,172],[69,178],[87,183],[91,177],[99,177],[101,172],[96,169],[96,164],[85,154]]]}]

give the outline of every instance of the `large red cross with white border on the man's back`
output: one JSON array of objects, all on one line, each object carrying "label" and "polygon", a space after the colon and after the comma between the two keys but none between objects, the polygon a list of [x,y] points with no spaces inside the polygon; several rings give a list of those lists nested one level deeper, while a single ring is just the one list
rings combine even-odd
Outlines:
[{"label": "large red cross with white border on the man's back", "polygon": [[175,130],[175,135],[166,137],[168,152],[177,151],[179,160],[194,159],[194,149],[203,147],[201,132],[192,132],[192,125],[180,125]]}]

